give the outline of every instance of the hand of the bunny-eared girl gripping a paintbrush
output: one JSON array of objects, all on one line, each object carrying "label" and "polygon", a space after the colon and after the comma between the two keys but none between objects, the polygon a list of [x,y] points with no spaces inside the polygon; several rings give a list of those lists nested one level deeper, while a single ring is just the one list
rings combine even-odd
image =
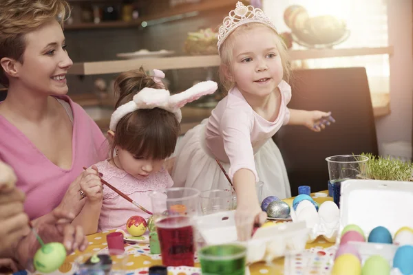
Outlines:
[{"label": "hand of the bunny-eared girl gripping a paintbrush", "polygon": [[83,171],[81,179],[81,191],[89,201],[101,201],[103,198],[103,186],[98,176],[98,168],[92,166]]}]

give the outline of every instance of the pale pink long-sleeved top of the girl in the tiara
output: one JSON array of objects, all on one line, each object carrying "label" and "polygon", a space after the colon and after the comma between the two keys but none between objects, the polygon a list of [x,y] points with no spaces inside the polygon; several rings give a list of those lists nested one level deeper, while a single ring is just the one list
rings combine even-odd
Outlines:
[{"label": "pale pink long-sleeved top of the girl in the tiara", "polygon": [[255,113],[236,87],[213,109],[205,131],[206,145],[215,157],[230,163],[231,179],[241,168],[251,170],[258,179],[254,153],[290,120],[291,87],[282,80],[278,88],[282,101],[274,122]]}]

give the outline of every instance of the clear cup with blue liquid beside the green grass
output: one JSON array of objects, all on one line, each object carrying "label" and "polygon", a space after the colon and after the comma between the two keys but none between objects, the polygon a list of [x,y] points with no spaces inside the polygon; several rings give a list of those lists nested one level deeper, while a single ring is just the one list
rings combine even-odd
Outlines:
[{"label": "clear cup with blue liquid beside the green grass", "polygon": [[346,179],[366,179],[368,157],[363,155],[334,155],[326,158],[329,190],[333,201],[340,207],[341,182]]}]

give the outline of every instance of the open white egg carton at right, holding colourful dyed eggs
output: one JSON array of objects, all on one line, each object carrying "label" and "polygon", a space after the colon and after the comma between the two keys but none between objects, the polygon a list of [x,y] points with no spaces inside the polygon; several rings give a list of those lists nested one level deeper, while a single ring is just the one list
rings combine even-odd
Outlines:
[{"label": "open white egg carton at right, holding colourful dyed eggs", "polygon": [[[413,184],[405,181],[381,181],[372,179],[349,179],[341,182],[339,232],[346,225],[359,225],[368,240],[370,232],[377,226],[384,226],[394,234],[404,226],[413,228]],[[339,247],[341,234],[337,234]],[[361,256],[362,263],[370,256],[380,255],[390,266],[397,244],[353,242]],[[401,274],[393,268],[392,275]]]}]

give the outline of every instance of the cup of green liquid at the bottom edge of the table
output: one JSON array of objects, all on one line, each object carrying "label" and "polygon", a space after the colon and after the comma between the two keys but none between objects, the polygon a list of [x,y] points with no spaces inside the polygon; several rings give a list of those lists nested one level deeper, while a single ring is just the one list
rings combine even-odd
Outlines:
[{"label": "cup of green liquid at the bottom edge of the table", "polygon": [[239,244],[208,245],[198,251],[202,274],[244,275],[246,247]]}]

